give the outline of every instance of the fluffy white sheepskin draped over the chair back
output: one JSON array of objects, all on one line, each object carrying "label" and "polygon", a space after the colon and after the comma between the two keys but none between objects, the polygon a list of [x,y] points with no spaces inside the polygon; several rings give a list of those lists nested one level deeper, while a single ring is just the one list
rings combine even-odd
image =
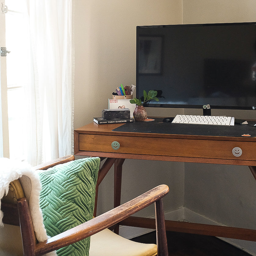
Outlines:
[{"label": "fluffy white sheepskin draped over the chair back", "polygon": [[[18,162],[10,160],[9,158],[0,158],[0,199],[5,194],[8,194],[9,183],[13,180],[19,179],[21,176],[27,176],[31,180],[31,196],[29,200],[29,208],[31,219],[34,225],[34,231],[39,242],[48,239],[46,230],[43,224],[43,216],[39,207],[39,195],[41,190],[41,183],[39,175],[36,171],[32,170],[30,165],[25,162]],[[1,201],[0,201],[1,207]],[[2,222],[3,212],[0,211],[0,232],[3,226]],[[56,256],[56,252],[48,253],[47,256]]]}]

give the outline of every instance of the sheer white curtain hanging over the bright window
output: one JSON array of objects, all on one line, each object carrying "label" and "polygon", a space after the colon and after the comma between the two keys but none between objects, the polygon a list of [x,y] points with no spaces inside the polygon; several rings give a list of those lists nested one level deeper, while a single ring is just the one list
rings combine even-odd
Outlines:
[{"label": "sheer white curtain hanging over the bright window", "polygon": [[27,161],[34,166],[73,151],[72,0],[27,0],[27,10]]}]

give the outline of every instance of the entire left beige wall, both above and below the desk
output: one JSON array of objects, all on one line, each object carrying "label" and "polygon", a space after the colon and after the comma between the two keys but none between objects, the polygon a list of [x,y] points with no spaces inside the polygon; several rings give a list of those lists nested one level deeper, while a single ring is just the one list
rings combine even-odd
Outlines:
[{"label": "entire left beige wall, both above and below the desk", "polygon": [[[76,0],[74,127],[91,123],[108,108],[120,84],[135,84],[136,26],[182,23],[182,1]],[[165,209],[183,205],[184,164],[126,160],[122,201],[161,183],[171,184]],[[173,184],[173,185],[172,185]],[[113,170],[100,185],[98,212],[112,208]],[[154,214],[152,208],[141,213]]]}]

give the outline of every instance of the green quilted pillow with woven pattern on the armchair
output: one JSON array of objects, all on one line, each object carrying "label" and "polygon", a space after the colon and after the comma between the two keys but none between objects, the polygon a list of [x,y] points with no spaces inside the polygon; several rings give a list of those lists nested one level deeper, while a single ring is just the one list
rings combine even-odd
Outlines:
[{"label": "green quilted pillow with woven pattern on the armchair", "polygon": [[[100,158],[82,158],[40,171],[40,208],[48,236],[93,217]],[[88,256],[90,237],[57,250],[58,256]]]}]

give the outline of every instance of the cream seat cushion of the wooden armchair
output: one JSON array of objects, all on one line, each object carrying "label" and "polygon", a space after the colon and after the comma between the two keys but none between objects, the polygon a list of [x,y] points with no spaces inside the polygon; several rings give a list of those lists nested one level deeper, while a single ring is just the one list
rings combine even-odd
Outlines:
[{"label": "cream seat cushion of the wooden armchair", "polygon": [[156,244],[141,244],[104,229],[91,236],[89,256],[155,256]]}]

